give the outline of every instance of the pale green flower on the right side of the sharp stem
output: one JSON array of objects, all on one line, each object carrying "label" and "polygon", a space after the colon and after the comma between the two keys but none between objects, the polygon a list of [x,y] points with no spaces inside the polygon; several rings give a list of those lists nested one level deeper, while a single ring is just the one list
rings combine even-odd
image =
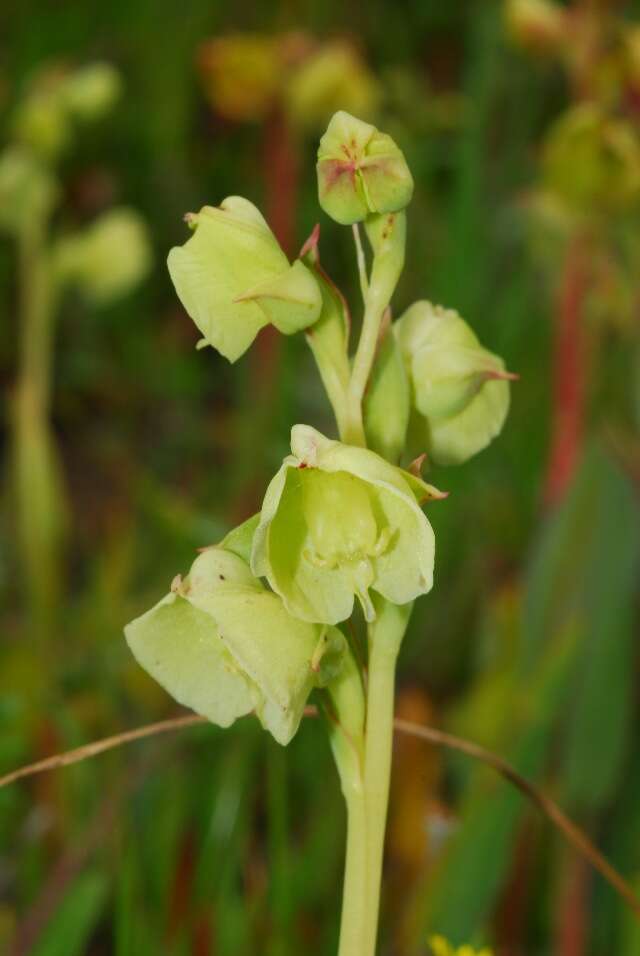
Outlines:
[{"label": "pale green flower on the right side of the sharp stem", "polygon": [[457,312],[416,302],[393,329],[411,383],[417,440],[439,464],[461,464],[502,429],[514,376]]}]

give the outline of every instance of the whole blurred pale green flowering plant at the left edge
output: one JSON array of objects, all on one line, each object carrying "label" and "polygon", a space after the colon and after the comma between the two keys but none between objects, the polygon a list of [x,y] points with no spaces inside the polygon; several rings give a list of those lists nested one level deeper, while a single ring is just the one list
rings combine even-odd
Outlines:
[{"label": "whole blurred pale green flowering plant at the left edge", "polygon": [[128,208],[105,212],[75,232],[52,229],[62,193],[58,163],[119,92],[120,77],[107,64],[42,71],[17,103],[0,153],[0,232],[15,243],[18,260],[13,498],[30,630],[41,642],[59,601],[67,513],[50,425],[56,313],[70,291],[91,306],[125,295],[150,263],[145,227]]}]

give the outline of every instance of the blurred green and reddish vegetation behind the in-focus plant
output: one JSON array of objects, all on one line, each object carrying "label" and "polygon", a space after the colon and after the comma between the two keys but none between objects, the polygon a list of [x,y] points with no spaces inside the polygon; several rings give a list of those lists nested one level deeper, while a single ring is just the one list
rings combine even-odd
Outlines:
[{"label": "blurred green and reddish vegetation behind the in-focus plant", "polygon": [[[351,236],[320,214],[314,172],[330,113],[356,102],[416,180],[396,309],[458,309],[521,376],[491,448],[431,473],[451,495],[429,511],[436,587],[403,648],[398,711],[507,757],[640,887],[640,15],[576,2],[557,42],[522,9],[0,9],[3,148],[27,135],[16,116],[39,71],[103,61],[121,77],[111,111],[51,162],[48,235],[126,206],[152,250],[123,294],[55,302],[43,447],[57,465],[45,451],[16,469],[35,266],[15,230],[0,237],[0,773],[176,712],[123,624],[254,513],[292,424],[334,434],[303,338],[263,335],[234,367],[196,352],[164,260],[186,211],[240,194],[289,252],[320,220],[323,264],[357,303]],[[562,124],[585,104],[597,122],[572,138]],[[39,544],[58,466],[64,531]],[[29,567],[25,513],[48,567]],[[286,751],[251,720],[134,744],[0,790],[0,952],[329,956],[343,841],[313,721]],[[388,956],[426,956],[435,932],[496,956],[640,954],[621,902],[507,784],[407,739],[383,896]]]}]

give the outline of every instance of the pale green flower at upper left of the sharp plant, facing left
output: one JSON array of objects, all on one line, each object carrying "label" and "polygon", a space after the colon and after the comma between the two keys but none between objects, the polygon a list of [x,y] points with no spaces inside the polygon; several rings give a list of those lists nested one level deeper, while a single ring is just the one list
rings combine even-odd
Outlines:
[{"label": "pale green flower at upper left of the sharp plant, facing left", "polygon": [[263,326],[290,335],[316,321],[322,297],[315,278],[299,259],[289,265],[247,199],[230,196],[188,221],[194,235],[170,251],[167,264],[203,345],[235,362]]}]

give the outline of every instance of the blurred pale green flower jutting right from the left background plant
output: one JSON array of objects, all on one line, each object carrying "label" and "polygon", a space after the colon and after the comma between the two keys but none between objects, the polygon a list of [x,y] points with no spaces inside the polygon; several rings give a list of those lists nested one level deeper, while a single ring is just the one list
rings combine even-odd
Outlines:
[{"label": "blurred pale green flower jutting right from the left background plant", "polygon": [[131,209],[112,209],[76,236],[62,239],[54,254],[62,284],[73,284],[91,302],[105,305],[126,295],[151,265],[147,229]]}]

